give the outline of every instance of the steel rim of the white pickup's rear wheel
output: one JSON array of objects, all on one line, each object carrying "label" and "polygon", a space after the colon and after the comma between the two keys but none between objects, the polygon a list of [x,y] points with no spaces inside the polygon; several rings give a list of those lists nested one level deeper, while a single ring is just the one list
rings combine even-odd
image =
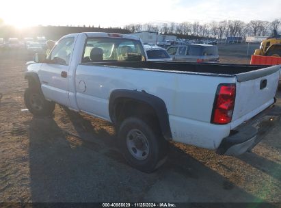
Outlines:
[{"label": "steel rim of the white pickup's rear wheel", "polygon": [[149,143],[146,135],[139,129],[132,129],[127,133],[126,144],[135,159],[144,160],[148,157]]}]

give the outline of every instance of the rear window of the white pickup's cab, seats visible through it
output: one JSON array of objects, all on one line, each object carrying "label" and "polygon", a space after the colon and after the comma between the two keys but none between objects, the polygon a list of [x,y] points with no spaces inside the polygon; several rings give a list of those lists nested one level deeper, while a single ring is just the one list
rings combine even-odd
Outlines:
[{"label": "rear window of the white pickup's cab, seats visible through it", "polygon": [[139,40],[88,38],[82,62],[144,61],[144,54],[144,49]]}]

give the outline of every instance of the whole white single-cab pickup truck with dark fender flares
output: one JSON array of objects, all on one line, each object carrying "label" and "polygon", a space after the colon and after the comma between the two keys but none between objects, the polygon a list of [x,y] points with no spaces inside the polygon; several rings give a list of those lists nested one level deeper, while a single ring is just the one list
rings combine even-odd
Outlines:
[{"label": "whole white single-cab pickup truck with dark fender flares", "polygon": [[168,141],[240,155],[263,122],[279,119],[278,66],[146,59],[134,36],[64,36],[27,67],[25,105],[37,116],[59,103],[112,122],[124,157],[144,172],[163,164]]}]

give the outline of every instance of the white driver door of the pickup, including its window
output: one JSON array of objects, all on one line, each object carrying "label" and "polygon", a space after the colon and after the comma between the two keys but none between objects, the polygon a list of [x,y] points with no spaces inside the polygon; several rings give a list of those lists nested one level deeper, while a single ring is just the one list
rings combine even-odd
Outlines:
[{"label": "white driver door of the pickup, including its window", "polygon": [[70,106],[68,98],[68,71],[75,38],[59,40],[38,73],[46,99]]}]

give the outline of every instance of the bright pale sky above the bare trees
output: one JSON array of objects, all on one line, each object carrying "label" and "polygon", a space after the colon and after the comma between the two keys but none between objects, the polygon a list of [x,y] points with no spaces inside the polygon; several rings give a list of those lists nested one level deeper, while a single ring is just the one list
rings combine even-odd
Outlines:
[{"label": "bright pale sky above the bare trees", "polygon": [[281,0],[18,0],[3,1],[0,18],[8,25],[94,25],[251,20],[281,18]]}]

